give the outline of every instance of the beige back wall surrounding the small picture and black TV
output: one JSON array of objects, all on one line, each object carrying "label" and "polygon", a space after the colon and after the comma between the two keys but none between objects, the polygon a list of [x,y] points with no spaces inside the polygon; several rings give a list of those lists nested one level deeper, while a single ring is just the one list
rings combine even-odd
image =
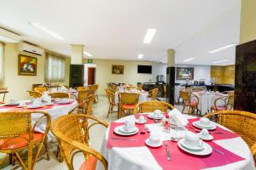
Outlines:
[{"label": "beige back wall surrounding the small picture and black TV", "polygon": [[[128,61],[128,60],[108,60],[94,59],[96,64],[96,83],[98,83],[98,94],[105,94],[108,82],[125,82],[137,85],[137,82],[148,82],[150,79],[154,82],[154,74],[137,74],[137,65],[152,65],[154,73],[155,62]],[[124,75],[112,74],[112,65],[124,65]]]}]

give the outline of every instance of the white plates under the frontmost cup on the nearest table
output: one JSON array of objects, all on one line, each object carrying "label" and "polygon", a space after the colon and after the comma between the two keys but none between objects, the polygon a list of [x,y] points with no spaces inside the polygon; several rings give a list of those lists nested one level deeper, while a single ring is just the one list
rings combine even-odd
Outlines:
[{"label": "white plates under the frontmost cup on the nearest table", "polygon": [[193,154],[195,156],[207,156],[212,153],[212,146],[203,142],[202,146],[190,146],[184,143],[184,139],[180,139],[177,142],[178,147],[189,154]]}]

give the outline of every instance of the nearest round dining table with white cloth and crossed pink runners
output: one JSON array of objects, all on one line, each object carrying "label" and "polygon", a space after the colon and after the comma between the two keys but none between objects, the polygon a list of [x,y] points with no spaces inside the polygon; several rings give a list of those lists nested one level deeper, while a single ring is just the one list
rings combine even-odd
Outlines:
[{"label": "nearest round dining table with white cloth and crossed pink runners", "polygon": [[[193,122],[200,118],[195,116],[184,115],[189,124],[182,128],[171,128],[170,131],[165,131],[161,122],[154,122],[148,118],[146,114],[137,114],[132,116],[125,116],[115,122],[111,122],[107,128],[104,139],[102,141],[101,153],[108,161],[108,169],[122,169],[122,170],[253,170],[254,161],[251,151],[246,142],[241,137],[219,125],[212,122],[216,126],[215,130],[211,130],[213,139],[205,141],[212,147],[212,153],[207,156],[197,156],[189,154],[181,150],[177,141],[173,141],[172,137],[178,136],[180,139],[188,131],[195,132],[195,127],[192,128]],[[136,121],[139,116],[146,117],[145,124],[135,124],[138,132],[133,135],[122,136],[114,133],[115,127],[124,125],[127,121]],[[142,133],[144,127],[148,127],[147,133]],[[190,128],[191,127],[191,128]],[[209,131],[210,132],[210,131]],[[218,133],[216,133],[218,132]],[[160,140],[167,144],[169,148],[170,160],[166,153],[166,147],[150,147],[145,144],[150,133],[157,133]],[[102,164],[98,161],[96,169],[100,170]]]}]

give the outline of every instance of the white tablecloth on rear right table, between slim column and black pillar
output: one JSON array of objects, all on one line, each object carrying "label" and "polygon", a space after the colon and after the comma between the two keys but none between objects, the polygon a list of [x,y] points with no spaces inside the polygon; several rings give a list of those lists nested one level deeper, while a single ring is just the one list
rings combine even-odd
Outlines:
[{"label": "white tablecloth on rear right table, between slim column and black pillar", "polygon": [[[195,94],[199,99],[198,108],[201,111],[201,115],[205,115],[207,111],[211,111],[212,105],[214,105],[215,99],[218,99],[221,96],[224,96],[226,94],[201,94],[198,92],[193,93]],[[220,101],[218,103],[218,106],[224,106],[224,102]]]}]

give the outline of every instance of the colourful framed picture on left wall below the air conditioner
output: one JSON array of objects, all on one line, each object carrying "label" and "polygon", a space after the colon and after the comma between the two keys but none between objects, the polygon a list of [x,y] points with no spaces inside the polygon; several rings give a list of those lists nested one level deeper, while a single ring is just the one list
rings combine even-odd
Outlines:
[{"label": "colourful framed picture on left wall below the air conditioner", "polygon": [[37,76],[38,59],[19,54],[18,74],[20,76]]}]

